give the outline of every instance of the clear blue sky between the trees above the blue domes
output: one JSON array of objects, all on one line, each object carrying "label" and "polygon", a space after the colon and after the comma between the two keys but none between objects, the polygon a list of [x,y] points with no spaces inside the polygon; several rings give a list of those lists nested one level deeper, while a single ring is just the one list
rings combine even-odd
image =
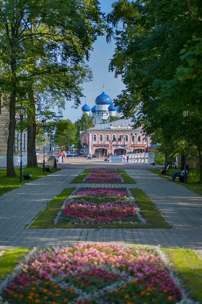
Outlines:
[{"label": "clear blue sky between the trees above the blue domes", "polygon": [[[101,10],[109,13],[112,10],[111,5],[115,0],[99,0]],[[93,52],[91,52],[88,62],[89,67],[93,72],[93,80],[83,85],[83,94],[86,96],[86,103],[93,107],[95,98],[103,92],[103,82],[105,83],[105,92],[110,97],[115,98],[124,89],[124,84],[121,78],[115,78],[114,73],[109,72],[109,63],[112,59],[115,49],[115,44],[107,44],[106,37],[98,37],[93,44]],[[81,99],[81,105],[77,109],[71,108],[73,102],[66,104],[66,109],[63,111],[64,119],[70,119],[75,122],[82,115],[81,107],[85,103],[85,98]]]}]

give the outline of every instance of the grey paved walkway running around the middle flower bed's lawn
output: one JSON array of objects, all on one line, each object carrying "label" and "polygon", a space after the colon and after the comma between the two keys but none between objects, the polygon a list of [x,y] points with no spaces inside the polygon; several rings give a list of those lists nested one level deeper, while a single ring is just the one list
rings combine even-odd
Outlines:
[{"label": "grey paved walkway running around the middle flower bed's lawn", "polygon": [[0,249],[52,245],[74,245],[79,242],[109,242],[183,246],[195,249],[202,257],[202,197],[182,185],[170,182],[148,170],[126,170],[137,184],[102,184],[107,187],[138,187],[157,205],[173,229],[26,229],[46,204],[68,186],[83,170],[61,170],[24,184],[0,197]]}]

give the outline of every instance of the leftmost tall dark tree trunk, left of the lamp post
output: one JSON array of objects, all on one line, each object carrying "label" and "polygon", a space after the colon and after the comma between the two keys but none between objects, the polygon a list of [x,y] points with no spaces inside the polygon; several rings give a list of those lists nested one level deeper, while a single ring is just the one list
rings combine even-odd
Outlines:
[{"label": "leftmost tall dark tree trunk, left of the lamp post", "polygon": [[13,149],[15,142],[15,127],[16,127],[16,89],[13,90],[10,96],[10,121],[9,121],[9,138],[7,143],[7,177],[16,177],[13,163]]}]

